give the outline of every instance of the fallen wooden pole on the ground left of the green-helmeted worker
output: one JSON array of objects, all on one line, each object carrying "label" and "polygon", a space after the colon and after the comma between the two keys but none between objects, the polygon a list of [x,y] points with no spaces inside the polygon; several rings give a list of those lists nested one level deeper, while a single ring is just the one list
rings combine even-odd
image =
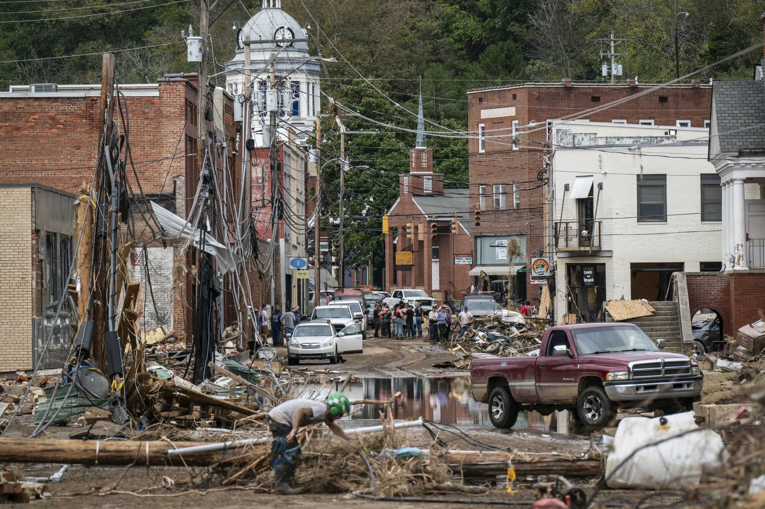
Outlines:
[{"label": "fallen wooden pole on the ground left of the green-helmeted worker", "polygon": [[[177,446],[205,446],[207,442],[178,442]],[[67,463],[76,465],[208,466],[236,459],[250,462],[270,451],[270,446],[189,452],[169,456],[168,442],[131,440],[61,440],[0,438],[0,462]],[[182,459],[181,459],[182,458]]]}]

